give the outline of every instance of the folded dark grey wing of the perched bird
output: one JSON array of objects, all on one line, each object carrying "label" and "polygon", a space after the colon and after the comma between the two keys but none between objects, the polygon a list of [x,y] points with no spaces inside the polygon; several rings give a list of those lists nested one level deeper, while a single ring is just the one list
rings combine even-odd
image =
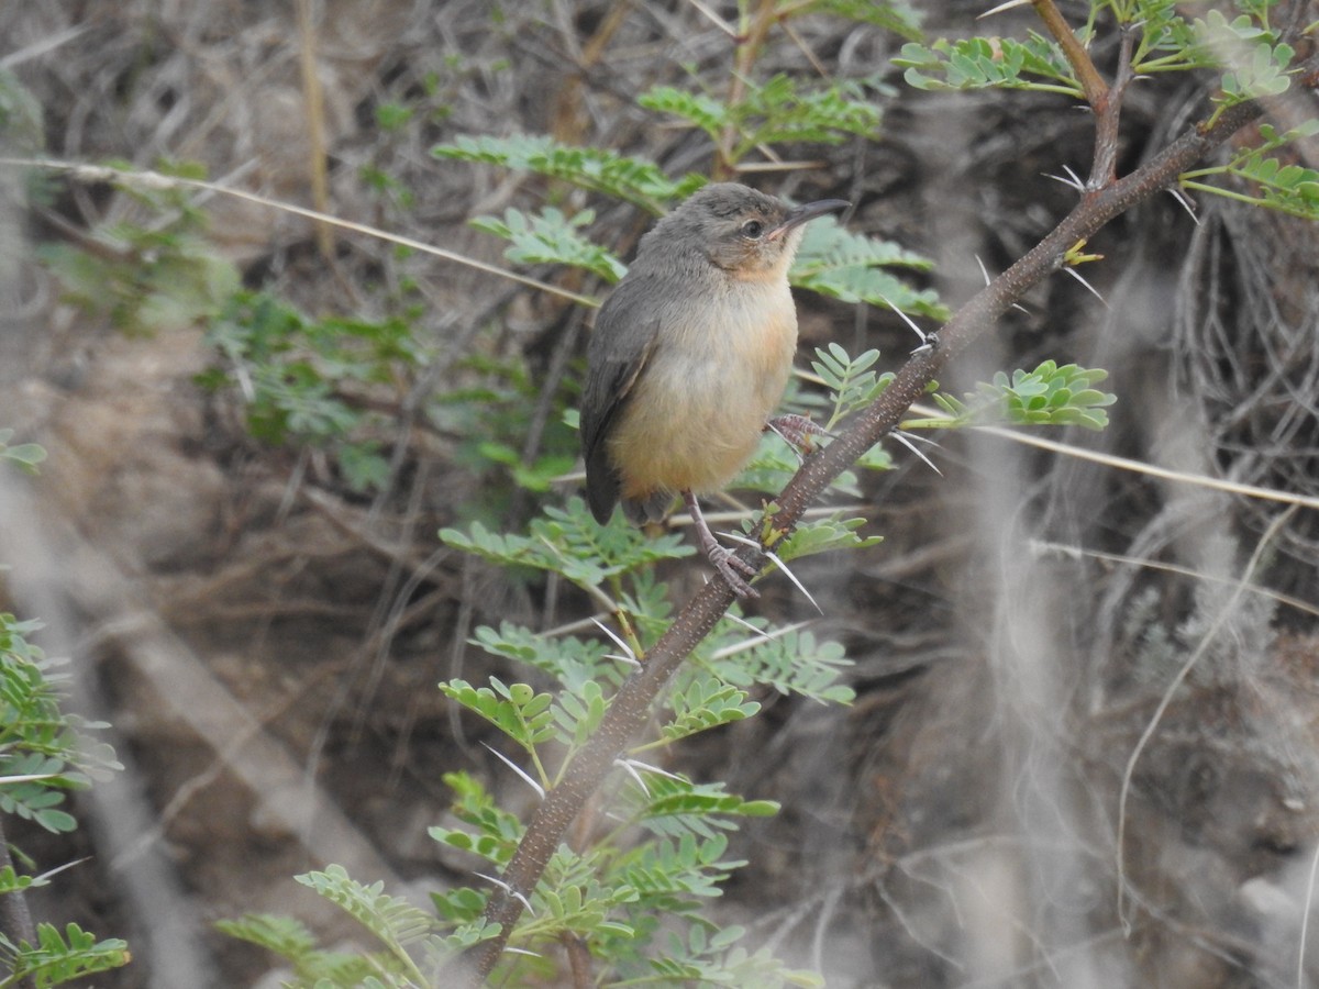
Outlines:
[{"label": "folded dark grey wing of the perched bird", "polygon": [[620,477],[609,463],[608,439],[658,339],[660,319],[638,303],[649,293],[640,280],[624,280],[595,320],[582,392],[582,454],[586,498],[601,525],[619,501]]}]

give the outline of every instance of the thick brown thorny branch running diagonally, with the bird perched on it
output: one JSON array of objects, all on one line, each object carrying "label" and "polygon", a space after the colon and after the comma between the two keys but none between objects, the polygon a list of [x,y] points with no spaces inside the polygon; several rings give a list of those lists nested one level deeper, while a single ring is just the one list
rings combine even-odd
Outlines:
[{"label": "thick brown thorny branch running diagonally, with the bird perched on it", "polygon": [[[884,393],[859,413],[836,439],[806,459],[776,500],[778,508],[768,520],[773,529],[791,531],[834,479],[898,426],[911,404],[925,394],[927,385],[954,356],[993,327],[1028,290],[1063,265],[1068,248],[1088,240],[1137,203],[1173,186],[1181,173],[1262,112],[1256,102],[1236,104],[1212,123],[1191,128],[1126,178],[1101,190],[1087,191],[1062,223],[948,320],[931,339],[934,345],[913,355]],[[765,562],[752,547],[740,550],[739,556],[752,566]],[[546,794],[532,815],[526,833],[503,874],[508,891],[496,890],[487,905],[484,919],[500,924],[500,934],[474,948],[472,986],[479,986],[495,968],[522,913],[524,898],[536,889],[574,818],[642,731],[652,705],[683,659],[710,634],[732,603],[733,592],[723,580],[708,582],[687,603],[645,655],[641,669],[619,688],[599,729],[572,758],[562,782]]]}]

